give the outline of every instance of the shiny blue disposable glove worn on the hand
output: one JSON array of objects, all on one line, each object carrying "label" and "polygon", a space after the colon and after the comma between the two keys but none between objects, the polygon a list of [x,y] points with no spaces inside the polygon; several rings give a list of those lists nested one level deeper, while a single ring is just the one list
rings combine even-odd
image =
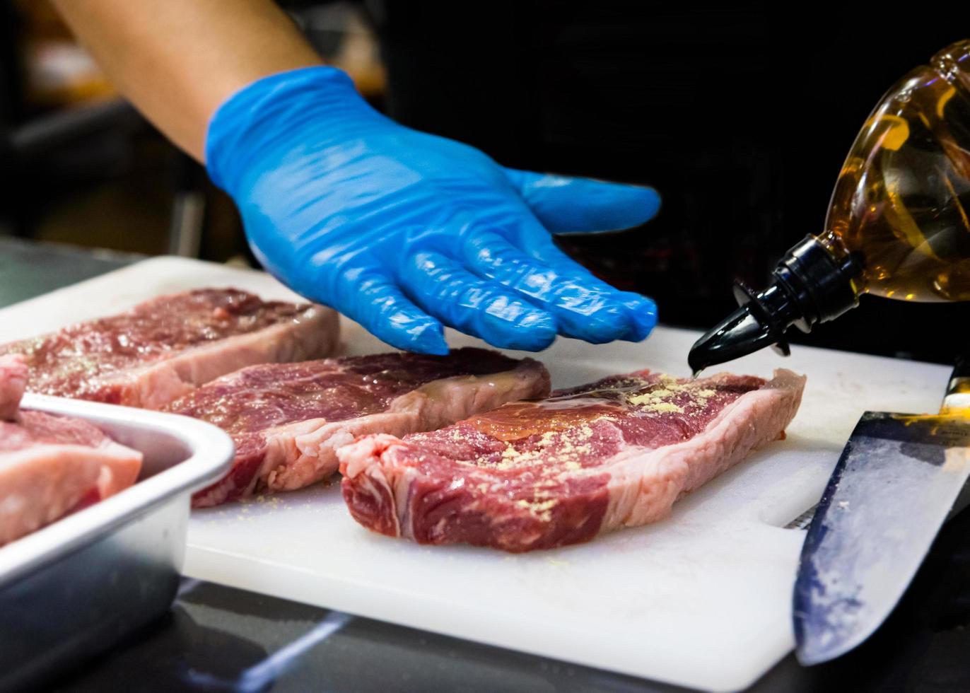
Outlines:
[{"label": "shiny blue disposable glove worn on the hand", "polygon": [[653,189],[502,168],[378,114],[336,68],[242,88],[212,116],[206,159],[266,268],[394,347],[445,353],[441,323],[538,350],[557,332],[640,341],[657,322],[550,236],[639,224]]}]

